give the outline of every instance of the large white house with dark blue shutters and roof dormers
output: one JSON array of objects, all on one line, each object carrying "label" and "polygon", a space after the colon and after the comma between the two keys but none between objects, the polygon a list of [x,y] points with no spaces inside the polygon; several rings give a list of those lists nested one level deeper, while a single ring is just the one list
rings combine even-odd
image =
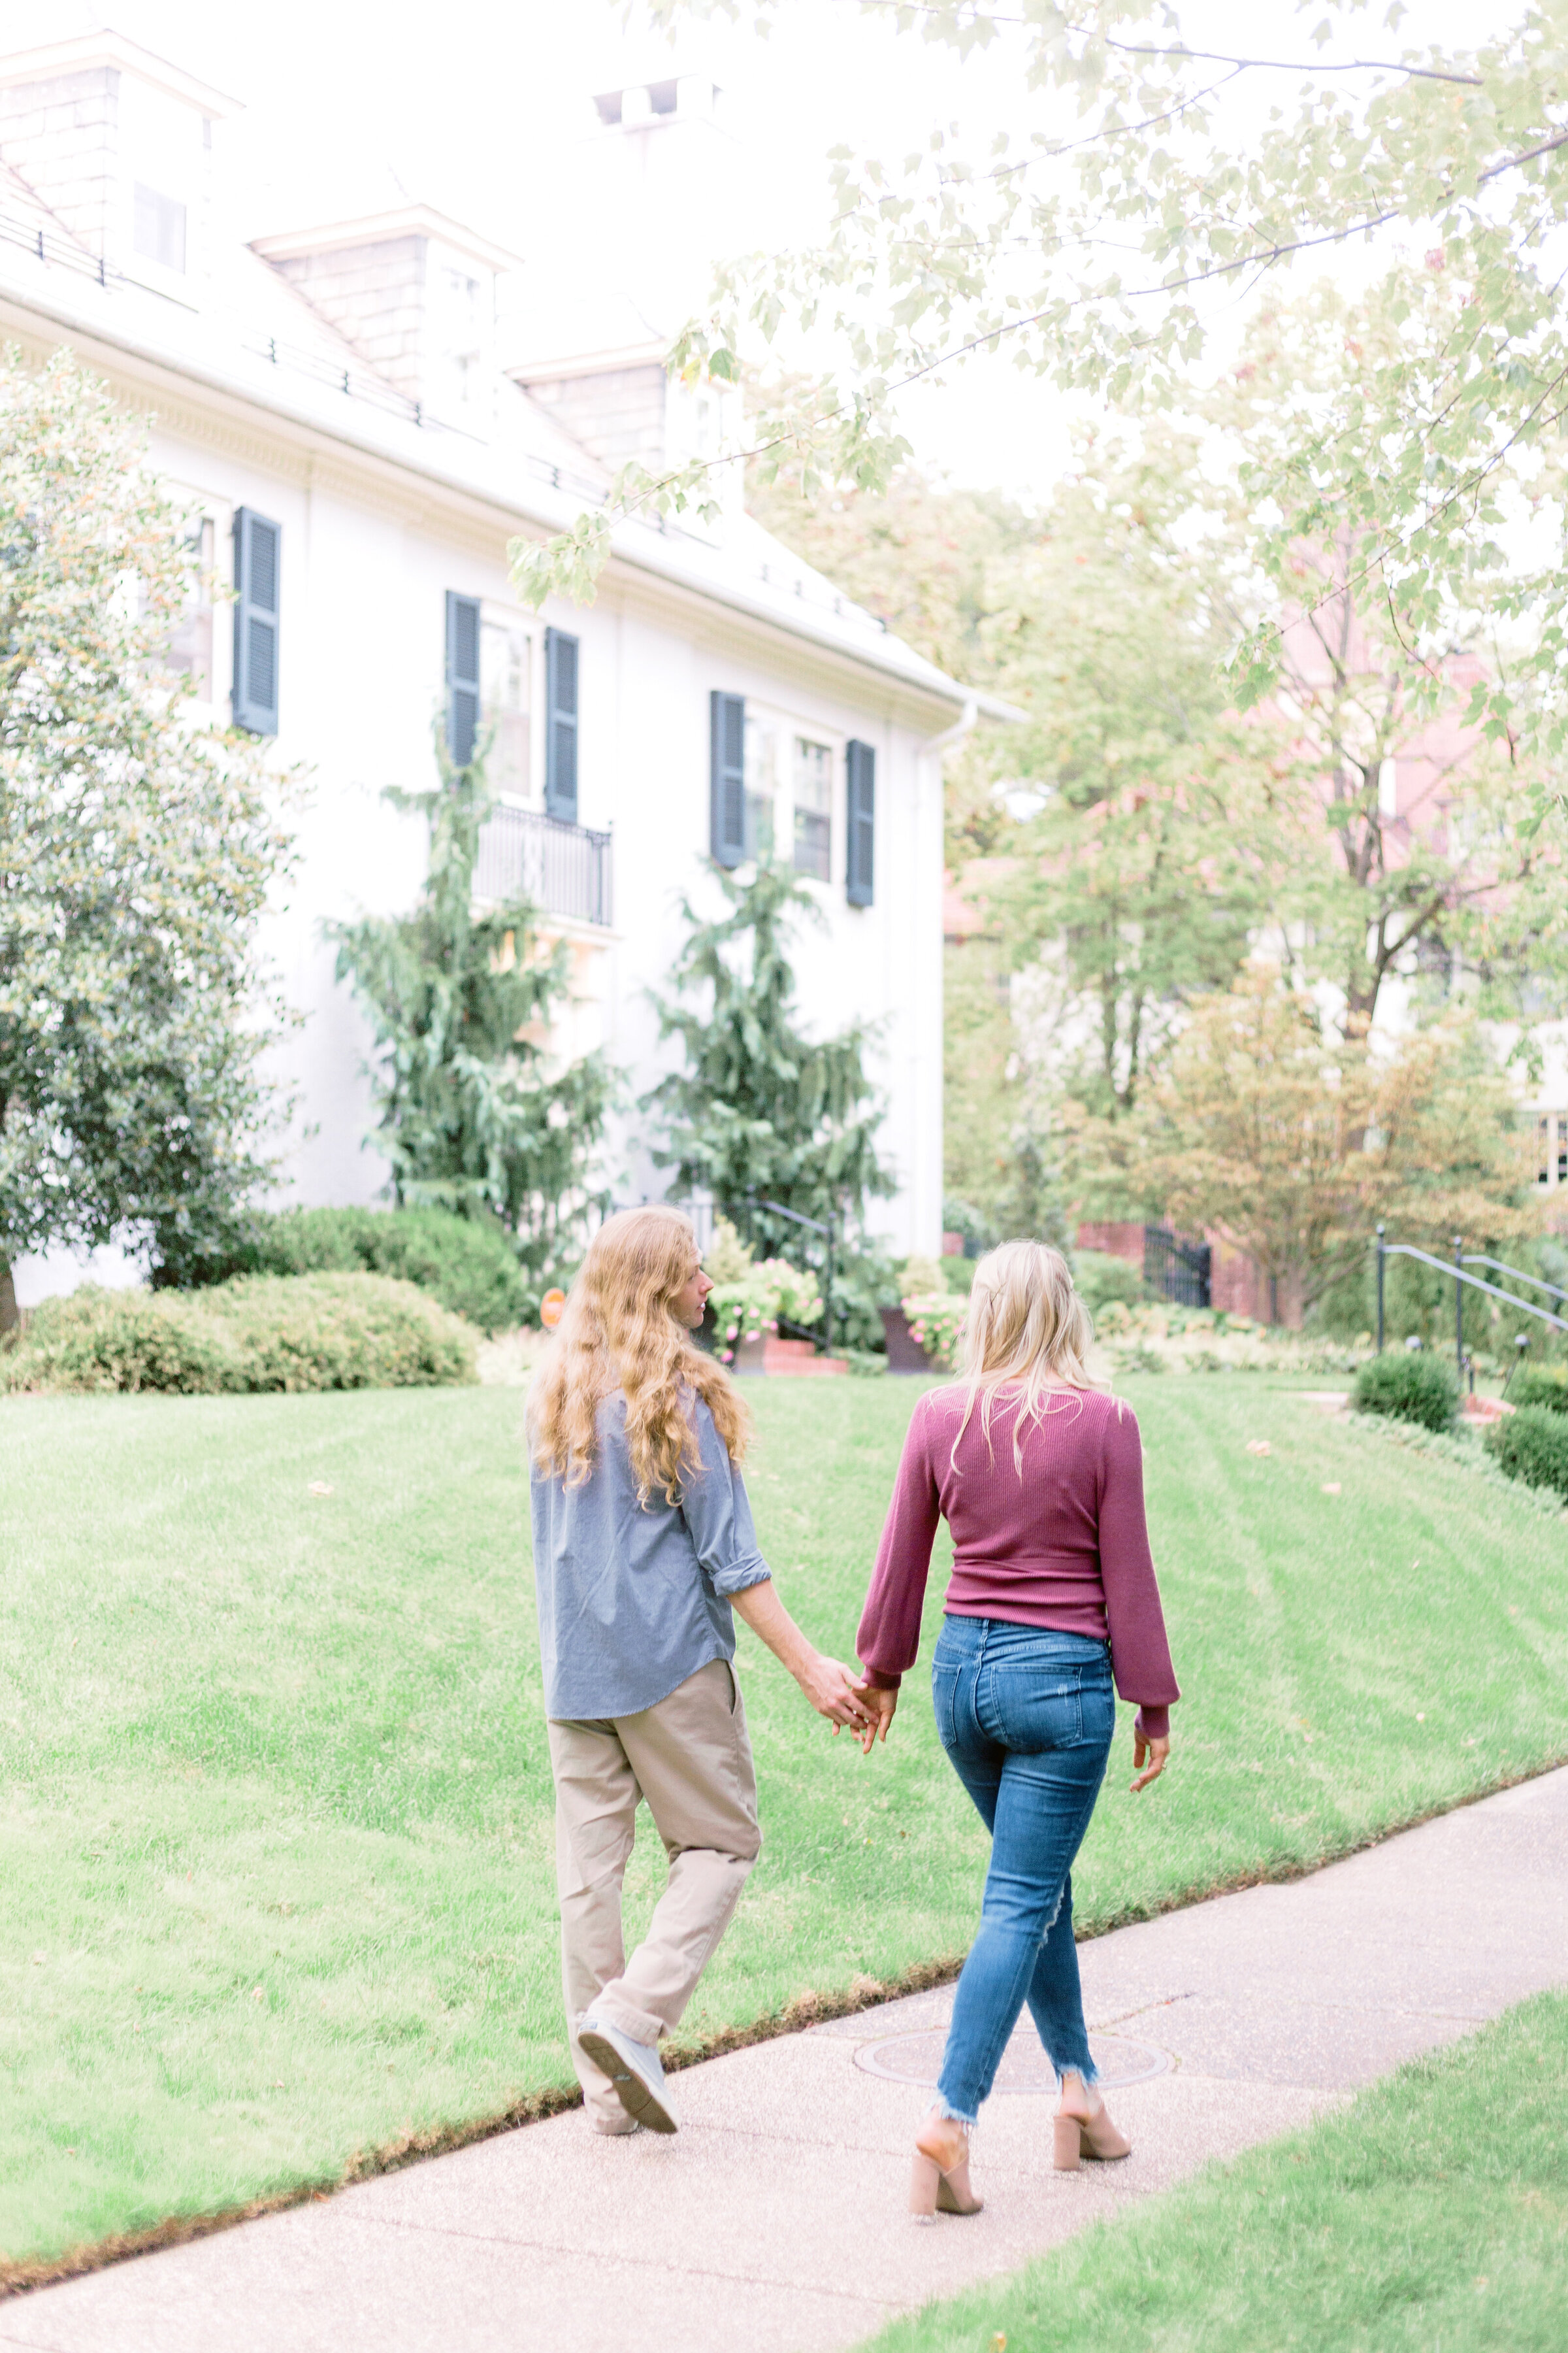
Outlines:
[{"label": "large white house with dark blue shutters and roof dormers", "polygon": [[[712,92],[682,80],[597,108],[632,186]],[[771,842],[823,915],[799,946],[806,1019],[882,1026],[886,1240],[936,1249],[940,758],[983,699],[762,532],[736,485],[715,527],[621,525],[592,607],[520,609],[515,534],[569,525],[632,452],[717,454],[729,421],[670,386],[616,289],[581,306],[592,348],[543,318],[529,346],[527,271],[423,205],[240,242],[223,226],[233,111],[115,33],[0,56],[0,334],[35,358],[71,346],[148,416],[190,529],[179,659],[214,720],[308,769],[273,922],[306,1014],[292,1198],[381,1193],[367,1033],[322,922],[411,901],[423,831],[383,788],[433,781],[433,727],[463,755],[494,725],[505,807],[480,887],[527,882],[571,941],[562,1049],[602,1042],[644,1092],[679,894],[712,904],[710,859]],[[635,1115],[614,1162],[630,1198],[663,1193]],[[21,1268],[21,1297],[61,1280]]]}]

